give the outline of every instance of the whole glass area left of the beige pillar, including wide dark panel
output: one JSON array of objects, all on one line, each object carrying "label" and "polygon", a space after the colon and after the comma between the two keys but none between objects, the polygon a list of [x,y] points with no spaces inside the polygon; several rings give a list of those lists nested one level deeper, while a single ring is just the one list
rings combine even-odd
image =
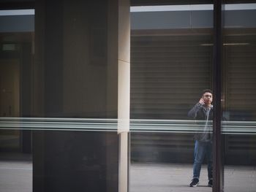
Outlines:
[{"label": "whole glass area left of the beige pillar, including wide dark panel", "polygon": [[0,11],[0,191],[118,191],[112,3]]}]

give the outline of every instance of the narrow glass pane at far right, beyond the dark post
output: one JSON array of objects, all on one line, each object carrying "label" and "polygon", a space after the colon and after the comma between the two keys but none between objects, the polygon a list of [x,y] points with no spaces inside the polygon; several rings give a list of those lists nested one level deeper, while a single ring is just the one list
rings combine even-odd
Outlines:
[{"label": "narrow glass pane at far right, beyond the dark post", "polygon": [[[228,1],[226,1],[228,3]],[[225,4],[222,122],[225,191],[255,191],[256,1]]]}]

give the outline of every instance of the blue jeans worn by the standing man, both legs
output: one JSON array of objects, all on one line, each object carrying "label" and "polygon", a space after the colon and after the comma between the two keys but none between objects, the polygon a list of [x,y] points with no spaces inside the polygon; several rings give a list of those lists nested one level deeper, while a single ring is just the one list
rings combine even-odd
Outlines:
[{"label": "blue jeans worn by the standing man, both legs", "polygon": [[212,142],[195,141],[193,178],[199,180],[203,159],[207,158],[208,180],[212,180]]}]

